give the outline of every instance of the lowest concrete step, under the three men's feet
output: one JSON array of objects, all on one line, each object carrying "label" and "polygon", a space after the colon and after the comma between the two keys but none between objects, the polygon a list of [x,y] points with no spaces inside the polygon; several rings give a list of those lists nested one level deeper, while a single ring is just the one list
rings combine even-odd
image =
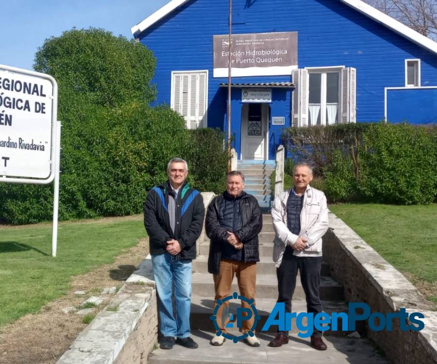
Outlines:
[{"label": "lowest concrete step, under the three men's feet", "polygon": [[[231,332],[233,333],[233,332]],[[172,350],[156,349],[148,358],[149,364],[388,364],[368,339],[327,336],[325,351],[310,347],[309,338],[289,335],[289,342],[282,347],[269,347],[274,333],[257,333],[260,347],[250,347],[244,342],[226,340],[222,346],[214,347],[209,341],[212,331],[193,330],[191,337],[199,348],[189,350],[175,345]]]}]

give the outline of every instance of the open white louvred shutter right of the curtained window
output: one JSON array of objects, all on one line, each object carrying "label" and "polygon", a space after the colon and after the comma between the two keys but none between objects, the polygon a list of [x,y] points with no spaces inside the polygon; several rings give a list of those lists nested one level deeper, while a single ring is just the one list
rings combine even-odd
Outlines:
[{"label": "open white louvred shutter right of the curtained window", "polygon": [[356,69],[343,68],[341,71],[341,123],[356,122]]}]

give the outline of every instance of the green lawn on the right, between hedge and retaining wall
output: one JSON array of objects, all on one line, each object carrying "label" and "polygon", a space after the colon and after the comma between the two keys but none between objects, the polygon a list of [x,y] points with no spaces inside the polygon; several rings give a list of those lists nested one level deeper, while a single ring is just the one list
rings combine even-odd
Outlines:
[{"label": "green lawn on the right, between hedge and retaining wall", "polygon": [[423,281],[437,303],[437,204],[338,204],[330,210],[384,259]]}]

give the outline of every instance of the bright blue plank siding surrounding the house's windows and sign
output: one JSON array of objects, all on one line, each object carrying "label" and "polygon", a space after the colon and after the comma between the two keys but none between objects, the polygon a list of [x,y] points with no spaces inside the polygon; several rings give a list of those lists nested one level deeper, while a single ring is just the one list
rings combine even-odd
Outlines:
[{"label": "bright blue plank siding surrounding the house's windows and sign", "polygon": [[[208,126],[221,129],[227,93],[218,85],[227,79],[213,78],[212,36],[228,32],[228,10],[228,0],[191,0],[139,35],[157,58],[152,81],[157,103],[170,103],[172,70],[207,69]],[[384,117],[384,87],[404,86],[406,58],[421,59],[422,86],[437,85],[436,54],[338,0],[234,0],[233,12],[237,22],[245,21],[234,24],[233,33],[297,31],[299,68],[355,67],[358,122]],[[275,81],[291,76],[233,78],[233,83]],[[278,107],[289,125],[290,103]]]}]

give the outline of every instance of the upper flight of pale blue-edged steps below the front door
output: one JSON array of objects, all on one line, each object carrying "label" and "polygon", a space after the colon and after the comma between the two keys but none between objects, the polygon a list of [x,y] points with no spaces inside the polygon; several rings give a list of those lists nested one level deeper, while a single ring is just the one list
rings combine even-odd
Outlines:
[{"label": "upper flight of pale blue-edged steps below the front door", "polygon": [[240,160],[237,168],[245,177],[244,191],[255,196],[263,210],[270,209],[273,200],[270,176],[275,169],[275,161]]}]

